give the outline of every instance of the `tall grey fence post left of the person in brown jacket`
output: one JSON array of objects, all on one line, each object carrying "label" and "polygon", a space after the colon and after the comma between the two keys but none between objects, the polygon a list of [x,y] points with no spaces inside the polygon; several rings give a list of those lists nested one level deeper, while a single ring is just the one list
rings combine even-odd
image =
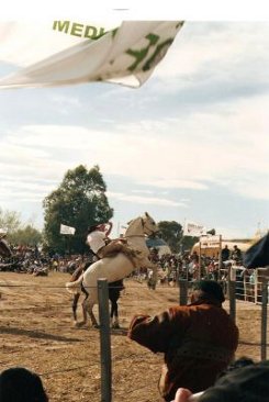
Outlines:
[{"label": "tall grey fence post left of the person in brown jacket", "polygon": [[107,279],[98,279],[100,347],[101,347],[101,402],[112,400],[111,339],[109,287]]}]

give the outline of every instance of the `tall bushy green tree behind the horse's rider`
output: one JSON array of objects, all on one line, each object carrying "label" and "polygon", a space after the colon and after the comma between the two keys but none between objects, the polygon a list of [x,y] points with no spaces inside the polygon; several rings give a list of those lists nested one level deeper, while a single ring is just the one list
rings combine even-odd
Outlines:
[{"label": "tall bushy green tree behind the horse's rider", "polygon": [[[88,227],[113,216],[105,191],[99,166],[88,170],[80,165],[68,170],[58,189],[43,201],[47,248],[61,254],[88,252],[85,243]],[[60,234],[60,224],[75,227],[75,235]]]}]

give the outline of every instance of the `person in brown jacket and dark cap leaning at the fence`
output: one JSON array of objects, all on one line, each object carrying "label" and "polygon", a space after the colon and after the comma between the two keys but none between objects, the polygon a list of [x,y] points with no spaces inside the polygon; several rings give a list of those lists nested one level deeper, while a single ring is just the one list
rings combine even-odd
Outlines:
[{"label": "person in brown jacket and dark cap leaning at the fence", "polygon": [[135,315],[127,336],[154,353],[165,354],[159,391],[172,401],[178,388],[197,393],[214,384],[234,359],[238,328],[222,308],[221,286],[194,282],[191,303],[155,315]]}]

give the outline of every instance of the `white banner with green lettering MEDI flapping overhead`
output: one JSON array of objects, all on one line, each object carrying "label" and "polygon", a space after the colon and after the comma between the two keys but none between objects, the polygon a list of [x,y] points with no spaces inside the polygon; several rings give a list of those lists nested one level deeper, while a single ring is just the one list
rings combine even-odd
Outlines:
[{"label": "white banner with green lettering MEDI flapping overhead", "polygon": [[0,22],[0,60],[26,66],[0,88],[107,81],[142,86],[164,58],[182,21],[124,21],[102,25],[52,21]]}]

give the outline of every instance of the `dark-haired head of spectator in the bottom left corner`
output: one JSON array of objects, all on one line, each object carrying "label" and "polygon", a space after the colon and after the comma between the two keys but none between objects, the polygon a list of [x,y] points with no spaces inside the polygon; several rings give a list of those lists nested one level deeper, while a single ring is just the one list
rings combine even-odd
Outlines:
[{"label": "dark-haired head of spectator in the bottom left corner", "polygon": [[38,375],[23,367],[12,367],[0,375],[1,402],[48,402]]}]

